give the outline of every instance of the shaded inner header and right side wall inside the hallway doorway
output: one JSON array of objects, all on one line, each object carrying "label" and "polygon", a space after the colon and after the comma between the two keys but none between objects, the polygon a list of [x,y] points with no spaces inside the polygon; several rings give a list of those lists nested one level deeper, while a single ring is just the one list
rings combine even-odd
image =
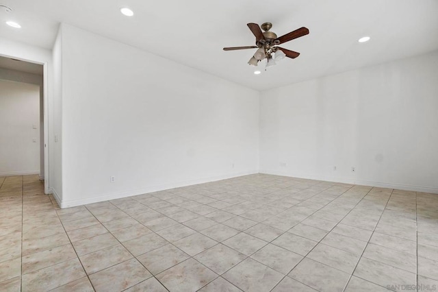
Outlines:
[{"label": "shaded inner header and right side wall inside the hallway doorway", "polygon": [[24,82],[36,84],[40,87],[40,122],[38,131],[40,135],[40,179],[44,178],[44,82],[42,75],[27,72],[15,71],[11,69],[0,68],[0,80],[9,80],[14,82]]}]

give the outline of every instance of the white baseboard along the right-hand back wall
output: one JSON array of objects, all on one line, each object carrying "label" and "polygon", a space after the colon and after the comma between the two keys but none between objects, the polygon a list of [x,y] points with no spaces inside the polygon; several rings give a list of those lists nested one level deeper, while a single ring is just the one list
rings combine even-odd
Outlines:
[{"label": "white baseboard along the right-hand back wall", "polygon": [[326,182],[342,182],[344,184],[359,184],[363,186],[376,186],[379,188],[396,188],[398,190],[404,191],[415,191],[422,193],[436,193],[438,194],[438,188],[428,187],[428,186],[413,186],[409,184],[394,184],[391,182],[373,182],[369,180],[353,180],[350,178],[334,178],[328,176],[320,175],[308,175],[303,173],[289,173],[286,171],[272,171],[268,169],[261,169],[259,173],[272,174],[272,175],[283,175],[290,178],[307,178],[309,180],[324,180]]}]

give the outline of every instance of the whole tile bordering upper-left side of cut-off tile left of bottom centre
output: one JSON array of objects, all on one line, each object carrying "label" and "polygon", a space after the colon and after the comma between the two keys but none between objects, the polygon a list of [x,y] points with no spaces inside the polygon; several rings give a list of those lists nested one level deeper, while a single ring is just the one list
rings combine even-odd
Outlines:
[{"label": "whole tile bordering upper-left side of cut-off tile left of bottom centre", "polygon": [[171,244],[164,245],[137,257],[140,263],[151,271],[153,275],[157,275],[157,273],[161,273],[165,269],[173,267],[188,258],[190,258],[188,254],[185,254],[185,252]]}]

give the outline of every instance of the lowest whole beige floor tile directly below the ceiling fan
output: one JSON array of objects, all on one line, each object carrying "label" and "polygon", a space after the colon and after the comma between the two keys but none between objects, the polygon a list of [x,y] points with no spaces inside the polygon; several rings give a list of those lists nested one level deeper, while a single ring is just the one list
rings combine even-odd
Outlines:
[{"label": "lowest whole beige floor tile directly below the ceiling fan", "polygon": [[303,256],[289,252],[289,250],[282,247],[268,244],[253,254],[251,258],[286,275],[302,260]]}]

